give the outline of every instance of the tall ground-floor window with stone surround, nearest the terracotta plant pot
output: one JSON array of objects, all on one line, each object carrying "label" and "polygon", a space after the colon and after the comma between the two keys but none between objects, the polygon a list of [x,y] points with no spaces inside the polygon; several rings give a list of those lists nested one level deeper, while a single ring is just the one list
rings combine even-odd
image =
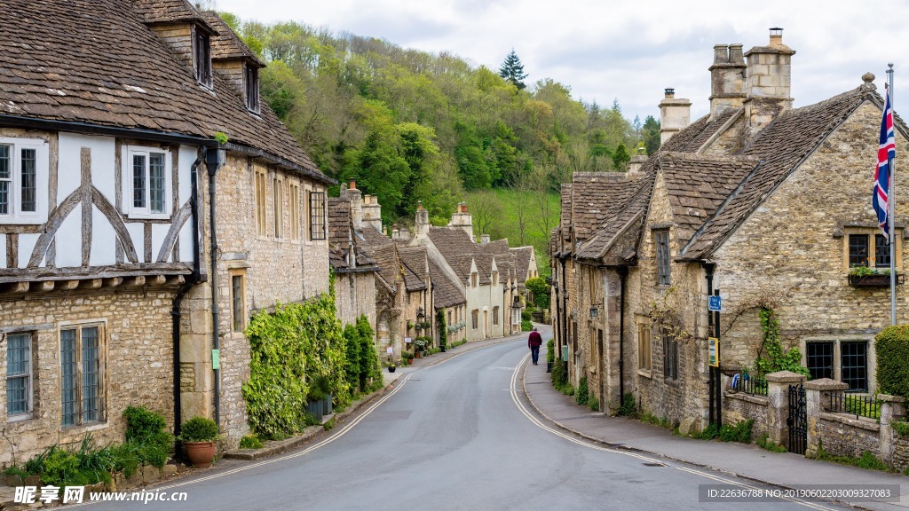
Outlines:
[{"label": "tall ground-floor window with stone surround, nearest the terracotta plant pot", "polygon": [[63,426],[102,420],[102,326],[60,330],[60,403]]}]

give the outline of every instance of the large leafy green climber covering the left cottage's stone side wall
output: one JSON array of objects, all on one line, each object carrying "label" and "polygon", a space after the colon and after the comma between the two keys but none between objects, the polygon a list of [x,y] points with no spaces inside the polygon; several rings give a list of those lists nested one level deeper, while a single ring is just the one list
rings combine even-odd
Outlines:
[{"label": "large leafy green climber covering the left cottage's stone side wall", "polygon": [[335,406],[350,404],[345,339],[332,294],[278,304],[274,313],[253,316],[245,334],[251,360],[243,397],[256,434],[284,438],[302,430],[306,396],[316,381],[325,382]]}]

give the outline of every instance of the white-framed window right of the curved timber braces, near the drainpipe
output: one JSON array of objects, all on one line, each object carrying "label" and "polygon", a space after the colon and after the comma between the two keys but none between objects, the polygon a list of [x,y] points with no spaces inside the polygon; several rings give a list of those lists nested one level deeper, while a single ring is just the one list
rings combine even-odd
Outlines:
[{"label": "white-framed window right of the curved timber braces, near the drainpipe", "polygon": [[133,217],[170,217],[170,155],[147,147],[129,147],[126,155],[125,213]]}]

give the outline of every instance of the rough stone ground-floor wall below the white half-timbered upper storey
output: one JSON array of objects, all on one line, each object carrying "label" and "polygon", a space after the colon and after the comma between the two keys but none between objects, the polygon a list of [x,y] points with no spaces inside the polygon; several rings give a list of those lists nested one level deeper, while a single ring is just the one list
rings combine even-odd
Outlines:
[{"label": "rough stone ground-floor wall below the white half-timbered upper storey", "polygon": [[[173,289],[118,289],[115,292],[73,296],[30,296],[0,302],[0,336],[10,330],[33,333],[33,411],[25,420],[8,421],[0,407],[4,435],[12,438],[15,453],[0,448],[0,466],[22,464],[56,443],[74,445],[91,434],[98,445],[122,442],[126,406],[144,405],[163,414],[168,428],[174,422],[173,343],[171,301]],[[60,329],[62,326],[100,325],[104,365],[101,378],[103,420],[80,426],[61,426]],[[6,367],[6,344],[0,349],[0,367]],[[6,395],[6,379],[0,379]],[[4,443],[6,441],[4,440]]]}]

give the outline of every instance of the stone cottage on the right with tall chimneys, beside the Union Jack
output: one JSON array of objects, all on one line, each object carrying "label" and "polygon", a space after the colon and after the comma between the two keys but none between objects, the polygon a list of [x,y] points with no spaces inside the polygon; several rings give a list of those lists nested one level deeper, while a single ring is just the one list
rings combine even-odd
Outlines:
[{"label": "stone cottage on the right with tall chimneys, beside the Union Jack", "polygon": [[[867,74],[853,90],[793,108],[794,53],[779,29],[744,54],[715,46],[710,114],[683,125],[690,102],[667,89],[661,112],[672,121],[656,154],[626,175],[564,185],[554,327],[574,381],[588,377],[608,409],[628,395],[655,416],[706,425],[712,290],[723,297],[725,375],[767,356],[758,315],[768,310],[812,377],[874,392],[873,339],[889,325],[889,292],[848,274],[889,266],[870,196],[883,100]],[[898,121],[898,147],[906,133]],[[900,274],[907,214],[897,203]],[[905,299],[897,286],[898,322],[909,320]]]}]

